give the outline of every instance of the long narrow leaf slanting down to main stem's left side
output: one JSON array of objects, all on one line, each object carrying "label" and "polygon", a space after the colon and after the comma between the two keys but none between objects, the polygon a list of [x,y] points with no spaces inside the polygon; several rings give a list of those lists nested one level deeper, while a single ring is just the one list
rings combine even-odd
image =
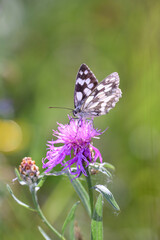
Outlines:
[{"label": "long narrow leaf slanting down to main stem's left side", "polygon": [[85,188],[82,186],[80,181],[76,178],[73,180],[72,176],[67,172],[67,175],[74,187],[76,193],[78,194],[79,198],[81,199],[85,209],[87,210],[89,216],[91,217],[91,206],[89,201],[88,193],[86,192]]}]

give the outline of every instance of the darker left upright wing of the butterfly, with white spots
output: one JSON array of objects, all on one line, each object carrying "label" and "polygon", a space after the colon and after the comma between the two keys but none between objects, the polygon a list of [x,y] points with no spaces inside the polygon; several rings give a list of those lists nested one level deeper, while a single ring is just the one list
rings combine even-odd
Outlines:
[{"label": "darker left upright wing of the butterfly, with white spots", "polygon": [[74,90],[74,106],[81,107],[83,102],[98,85],[98,81],[86,64],[82,64],[77,74]]}]

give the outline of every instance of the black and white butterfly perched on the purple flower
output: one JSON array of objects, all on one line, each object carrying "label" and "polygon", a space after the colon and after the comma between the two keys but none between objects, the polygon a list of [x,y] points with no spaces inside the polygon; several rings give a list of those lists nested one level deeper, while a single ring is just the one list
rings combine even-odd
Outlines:
[{"label": "black and white butterfly perched on the purple flower", "polygon": [[98,83],[89,67],[82,64],[76,78],[73,115],[93,118],[107,114],[122,96],[119,81],[118,73],[114,72]]}]

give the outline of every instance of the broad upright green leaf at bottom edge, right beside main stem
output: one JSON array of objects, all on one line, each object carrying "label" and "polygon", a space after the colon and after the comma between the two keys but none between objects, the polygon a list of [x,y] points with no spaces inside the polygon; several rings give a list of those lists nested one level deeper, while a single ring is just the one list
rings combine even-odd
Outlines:
[{"label": "broad upright green leaf at bottom edge, right beside main stem", "polygon": [[92,240],[103,240],[103,197],[99,195],[91,222]]}]

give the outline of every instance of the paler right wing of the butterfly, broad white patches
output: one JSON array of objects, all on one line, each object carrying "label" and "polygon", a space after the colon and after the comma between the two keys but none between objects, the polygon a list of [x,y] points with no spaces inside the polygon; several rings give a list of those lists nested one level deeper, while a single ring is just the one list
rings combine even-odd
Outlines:
[{"label": "paler right wing of the butterfly, broad white patches", "polygon": [[83,115],[87,117],[100,116],[114,108],[122,96],[119,81],[118,73],[114,72],[100,82],[85,99],[81,107]]}]

